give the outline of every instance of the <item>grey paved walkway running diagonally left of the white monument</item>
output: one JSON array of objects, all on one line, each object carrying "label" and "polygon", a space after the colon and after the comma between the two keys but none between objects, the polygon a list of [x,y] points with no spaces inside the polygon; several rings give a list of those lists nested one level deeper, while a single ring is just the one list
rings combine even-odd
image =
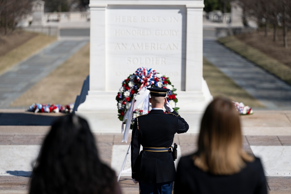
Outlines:
[{"label": "grey paved walkway running diagonally left of the white monument", "polygon": [[81,49],[88,40],[59,40],[0,75],[0,108],[10,104]]}]

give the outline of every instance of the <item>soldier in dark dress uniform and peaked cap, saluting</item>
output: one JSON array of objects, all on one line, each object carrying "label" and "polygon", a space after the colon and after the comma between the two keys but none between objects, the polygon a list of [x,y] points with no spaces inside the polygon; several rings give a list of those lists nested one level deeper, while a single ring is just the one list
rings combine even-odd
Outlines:
[{"label": "soldier in dark dress uniform and peaked cap, saluting", "polygon": [[[141,194],[172,193],[175,163],[171,153],[175,133],[185,133],[187,122],[168,103],[166,88],[148,88],[152,110],[134,122],[131,139],[132,180]],[[169,112],[164,113],[163,106]],[[139,153],[140,146],[143,150]]]}]

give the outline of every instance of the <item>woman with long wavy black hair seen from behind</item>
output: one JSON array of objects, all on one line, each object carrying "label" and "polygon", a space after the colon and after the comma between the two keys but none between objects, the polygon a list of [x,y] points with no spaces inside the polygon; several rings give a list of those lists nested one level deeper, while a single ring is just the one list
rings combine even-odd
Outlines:
[{"label": "woman with long wavy black hair seen from behind", "polygon": [[114,171],[99,159],[86,120],[67,115],[54,122],[33,168],[29,193],[121,193]]}]

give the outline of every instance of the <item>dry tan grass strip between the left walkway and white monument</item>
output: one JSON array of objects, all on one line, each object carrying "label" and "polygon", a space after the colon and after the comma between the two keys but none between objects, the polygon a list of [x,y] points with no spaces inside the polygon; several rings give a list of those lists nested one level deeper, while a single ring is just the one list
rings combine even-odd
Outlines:
[{"label": "dry tan grass strip between the left walkway and white monument", "polygon": [[89,75],[89,52],[90,44],[88,43],[16,99],[11,106],[28,108],[32,103],[53,103],[64,106],[75,102],[84,80]]}]

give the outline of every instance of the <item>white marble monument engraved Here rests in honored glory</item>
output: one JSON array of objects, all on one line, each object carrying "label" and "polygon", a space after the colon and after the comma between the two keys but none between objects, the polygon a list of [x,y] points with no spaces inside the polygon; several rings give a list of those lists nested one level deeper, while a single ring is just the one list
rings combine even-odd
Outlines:
[{"label": "white marble monument engraved Here rests in honored glory", "polygon": [[[89,6],[89,90],[76,114],[93,131],[121,131],[115,97],[139,67],[170,78],[185,119],[204,111],[212,96],[202,75],[202,0],[91,0]],[[197,131],[200,121],[194,122]]]}]

